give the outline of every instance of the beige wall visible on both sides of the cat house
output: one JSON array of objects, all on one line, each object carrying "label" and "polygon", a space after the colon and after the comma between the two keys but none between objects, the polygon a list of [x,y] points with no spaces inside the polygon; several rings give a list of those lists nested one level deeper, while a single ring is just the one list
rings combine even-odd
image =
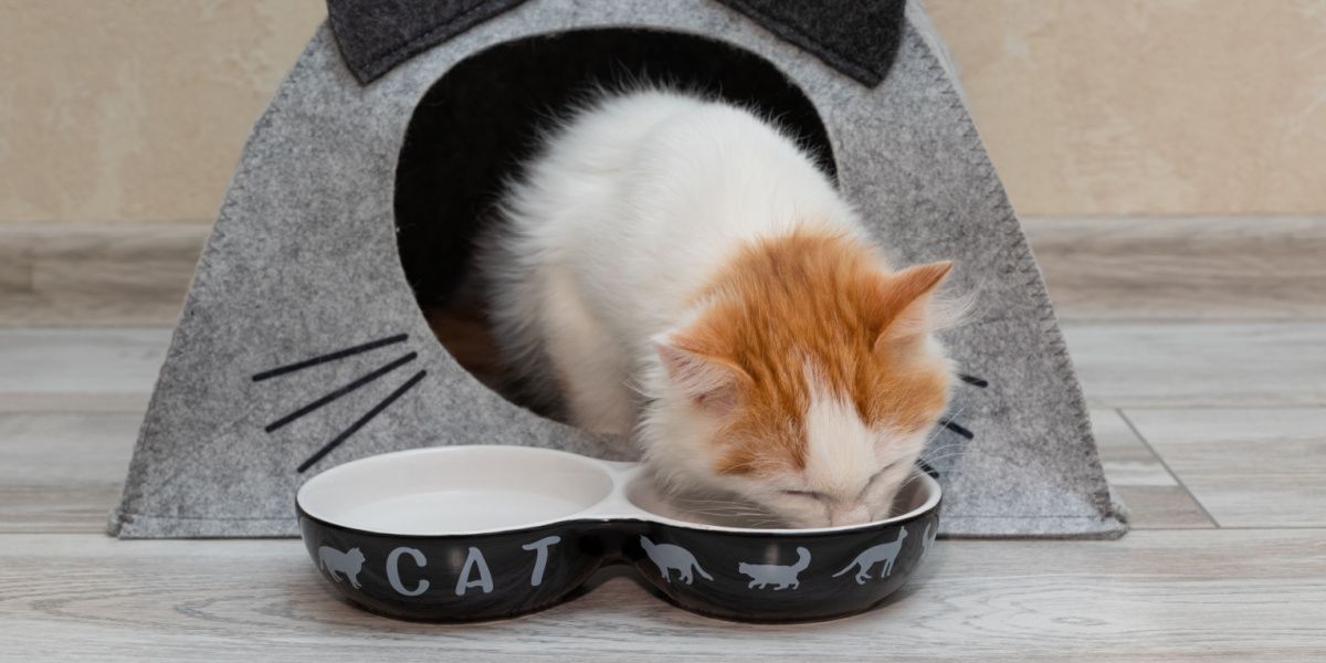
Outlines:
[{"label": "beige wall visible on both sides of the cat house", "polygon": [[[926,7],[1021,213],[1326,212],[1326,0]],[[0,223],[211,219],[322,16],[0,0]]]}]

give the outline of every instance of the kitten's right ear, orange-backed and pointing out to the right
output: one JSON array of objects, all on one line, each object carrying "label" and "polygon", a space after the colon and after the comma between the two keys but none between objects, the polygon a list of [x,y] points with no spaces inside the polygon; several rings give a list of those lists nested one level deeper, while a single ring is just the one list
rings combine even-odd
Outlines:
[{"label": "kitten's right ear, orange-backed and pointing out to the right", "polygon": [[[880,280],[880,310],[884,326],[875,350],[908,349],[926,334],[943,329],[961,316],[953,306],[937,302],[935,292],[952,271],[953,263],[912,265]],[[960,309],[961,306],[959,306]]]}]

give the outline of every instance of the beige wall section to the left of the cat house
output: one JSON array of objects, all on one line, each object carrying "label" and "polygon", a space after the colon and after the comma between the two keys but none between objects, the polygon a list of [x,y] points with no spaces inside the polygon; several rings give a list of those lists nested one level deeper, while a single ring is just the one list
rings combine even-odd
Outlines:
[{"label": "beige wall section to the left of the cat house", "polygon": [[0,0],[0,223],[216,215],[321,0]]}]

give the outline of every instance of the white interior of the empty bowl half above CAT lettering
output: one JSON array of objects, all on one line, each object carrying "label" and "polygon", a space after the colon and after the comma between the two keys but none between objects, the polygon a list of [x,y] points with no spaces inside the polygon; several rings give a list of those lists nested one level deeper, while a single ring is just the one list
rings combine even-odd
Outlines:
[{"label": "white interior of the empty bowl half above CAT lettering", "polygon": [[320,520],[383,534],[446,536],[540,525],[613,492],[599,463],[530,447],[383,453],[332,468],[300,488]]}]

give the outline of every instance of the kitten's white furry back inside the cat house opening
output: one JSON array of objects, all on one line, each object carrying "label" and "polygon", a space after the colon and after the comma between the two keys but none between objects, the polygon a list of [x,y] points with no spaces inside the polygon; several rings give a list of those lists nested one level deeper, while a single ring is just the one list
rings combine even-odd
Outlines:
[{"label": "kitten's white furry back inside the cat house opening", "polygon": [[586,382],[619,383],[743,245],[808,224],[858,229],[776,125],[666,89],[609,94],[572,115],[500,211],[505,231],[483,260],[495,337],[541,391],[554,389],[540,378],[545,355],[564,371],[611,365]]}]

